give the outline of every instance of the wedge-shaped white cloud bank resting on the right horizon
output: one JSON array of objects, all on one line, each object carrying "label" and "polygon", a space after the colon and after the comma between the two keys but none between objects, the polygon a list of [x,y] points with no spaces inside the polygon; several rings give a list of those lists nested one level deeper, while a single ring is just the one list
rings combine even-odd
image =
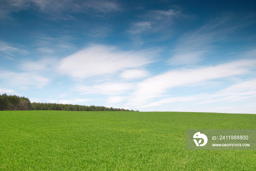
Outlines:
[{"label": "wedge-shaped white cloud bank resting on the right horizon", "polygon": [[255,113],[256,103],[250,103],[256,97],[255,85],[255,79],[242,81],[215,93],[162,98],[136,106],[136,108],[147,110],[156,107],[163,111],[167,109],[167,111]]}]

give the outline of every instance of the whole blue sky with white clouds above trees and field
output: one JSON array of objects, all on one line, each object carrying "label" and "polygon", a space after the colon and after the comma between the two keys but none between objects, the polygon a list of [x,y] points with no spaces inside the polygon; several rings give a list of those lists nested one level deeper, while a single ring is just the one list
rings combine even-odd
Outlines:
[{"label": "whole blue sky with white clouds above trees and field", "polygon": [[0,0],[0,93],[256,114],[256,2]]}]

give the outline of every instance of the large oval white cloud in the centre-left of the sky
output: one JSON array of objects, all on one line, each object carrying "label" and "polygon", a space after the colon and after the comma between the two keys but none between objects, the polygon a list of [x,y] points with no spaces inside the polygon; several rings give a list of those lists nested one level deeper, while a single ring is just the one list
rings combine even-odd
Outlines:
[{"label": "large oval white cloud in the centre-left of the sky", "polygon": [[63,58],[57,66],[61,74],[75,78],[108,75],[153,62],[154,52],[120,51],[115,47],[93,45]]}]

